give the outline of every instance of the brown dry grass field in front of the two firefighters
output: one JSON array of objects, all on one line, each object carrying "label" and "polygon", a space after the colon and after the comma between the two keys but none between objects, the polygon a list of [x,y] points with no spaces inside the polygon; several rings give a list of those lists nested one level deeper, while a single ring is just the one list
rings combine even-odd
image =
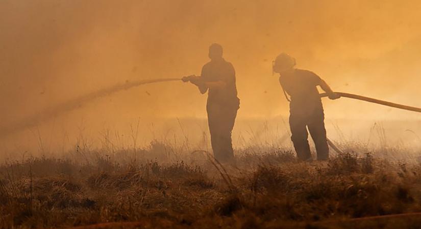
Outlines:
[{"label": "brown dry grass field in front of the two firefighters", "polygon": [[298,162],[287,150],[254,151],[238,152],[235,166],[220,165],[202,151],[174,156],[175,149],[158,142],[137,151],[76,150],[61,159],[7,161],[0,167],[0,227],[421,224],[421,165],[416,160],[349,150],[326,162]]}]

